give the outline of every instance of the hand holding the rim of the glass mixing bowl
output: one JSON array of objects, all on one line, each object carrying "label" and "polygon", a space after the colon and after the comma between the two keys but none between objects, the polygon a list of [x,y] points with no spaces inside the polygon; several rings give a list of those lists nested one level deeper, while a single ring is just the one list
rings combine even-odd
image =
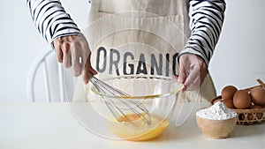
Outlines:
[{"label": "hand holding the rim of the glass mixing bowl", "polygon": [[183,54],[179,56],[178,82],[184,84],[185,90],[197,90],[208,74],[208,67],[200,56]]}]

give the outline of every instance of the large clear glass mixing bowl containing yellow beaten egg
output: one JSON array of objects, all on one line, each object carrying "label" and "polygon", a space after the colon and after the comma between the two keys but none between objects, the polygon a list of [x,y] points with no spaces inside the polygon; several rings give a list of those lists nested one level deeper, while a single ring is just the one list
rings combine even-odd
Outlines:
[{"label": "large clear glass mixing bowl containing yellow beaten egg", "polygon": [[[106,119],[117,137],[143,141],[158,137],[170,124],[170,112],[177,93],[184,87],[175,78],[150,75],[102,78],[102,82],[121,90],[119,93],[99,91],[99,84],[88,84],[95,98],[92,107]],[[148,111],[148,112],[147,112]]]}]

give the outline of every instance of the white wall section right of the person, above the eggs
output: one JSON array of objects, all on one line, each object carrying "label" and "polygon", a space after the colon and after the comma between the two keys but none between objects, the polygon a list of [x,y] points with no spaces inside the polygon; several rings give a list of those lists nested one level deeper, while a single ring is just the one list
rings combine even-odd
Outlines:
[{"label": "white wall section right of the person, above the eggs", "polygon": [[264,0],[226,0],[223,33],[210,62],[209,70],[217,93],[223,86],[239,88],[265,82]]}]

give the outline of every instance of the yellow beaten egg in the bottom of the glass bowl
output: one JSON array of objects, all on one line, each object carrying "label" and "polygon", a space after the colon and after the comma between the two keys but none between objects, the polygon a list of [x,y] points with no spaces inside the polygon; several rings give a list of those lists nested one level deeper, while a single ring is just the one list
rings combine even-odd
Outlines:
[{"label": "yellow beaten egg in the bottom of the glass bowl", "polygon": [[170,122],[159,115],[150,115],[149,123],[144,114],[126,114],[110,123],[110,130],[119,138],[130,141],[146,141],[160,136]]}]

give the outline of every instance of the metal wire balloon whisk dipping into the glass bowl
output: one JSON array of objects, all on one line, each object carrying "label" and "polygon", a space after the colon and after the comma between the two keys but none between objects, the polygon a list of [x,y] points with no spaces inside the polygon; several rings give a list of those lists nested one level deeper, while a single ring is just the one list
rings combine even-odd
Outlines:
[{"label": "metal wire balloon whisk dipping into the glass bowl", "polygon": [[[105,93],[110,94],[114,96],[125,96],[130,97],[130,94],[125,93],[119,89],[117,89],[114,86],[110,86],[104,82],[102,82],[100,79],[95,78],[94,76],[91,76],[90,82],[95,86],[95,89],[99,93]],[[109,108],[111,114],[119,121],[125,122],[124,119],[121,119],[121,117],[125,117],[125,119],[130,120],[128,115],[125,114],[123,111],[123,108],[117,106],[115,101],[107,96],[102,96],[102,100],[106,104],[107,108]],[[118,99],[120,103],[125,105],[126,109],[130,109],[134,114],[136,114],[144,123],[150,124],[150,114],[148,111],[148,108],[146,108],[140,101],[133,101],[133,100],[123,100]]]}]

